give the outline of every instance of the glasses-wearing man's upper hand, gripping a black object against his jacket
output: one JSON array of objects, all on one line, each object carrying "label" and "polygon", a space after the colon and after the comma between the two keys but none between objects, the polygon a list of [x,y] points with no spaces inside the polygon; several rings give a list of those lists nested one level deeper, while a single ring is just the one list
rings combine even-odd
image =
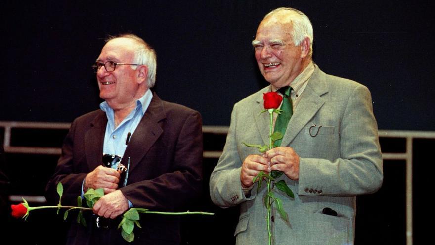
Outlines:
[{"label": "glasses-wearing man's upper hand, gripping a black object against his jacket", "polygon": [[115,169],[98,166],[87,174],[83,191],[86,192],[89,188],[103,188],[104,194],[114,192],[118,188],[119,177],[120,174]]}]

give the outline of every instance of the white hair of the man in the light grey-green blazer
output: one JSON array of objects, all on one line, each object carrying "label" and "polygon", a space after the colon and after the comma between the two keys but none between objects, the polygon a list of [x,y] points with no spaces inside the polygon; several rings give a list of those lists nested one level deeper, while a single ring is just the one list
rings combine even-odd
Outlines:
[{"label": "white hair of the man in the light grey-green blazer", "polygon": [[312,28],[311,21],[309,21],[309,18],[303,12],[294,8],[280,7],[266,14],[263,20],[266,19],[267,17],[271,17],[276,13],[280,13],[283,11],[290,11],[288,14],[286,14],[286,17],[287,20],[292,23],[293,42],[295,43],[296,46],[298,46],[301,44],[301,42],[304,40],[305,37],[308,37],[311,42],[308,55],[312,56],[312,43],[314,40],[313,28]]}]

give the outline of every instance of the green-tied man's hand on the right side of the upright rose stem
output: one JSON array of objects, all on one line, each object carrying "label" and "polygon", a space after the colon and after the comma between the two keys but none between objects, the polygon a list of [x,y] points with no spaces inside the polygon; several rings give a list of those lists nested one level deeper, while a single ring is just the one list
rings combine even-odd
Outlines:
[{"label": "green-tied man's hand on the right side of the upright rose stem", "polygon": [[271,170],[284,172],[292,180],[299,180],[299,155],[291,147],[276,147],[265,152]]}]

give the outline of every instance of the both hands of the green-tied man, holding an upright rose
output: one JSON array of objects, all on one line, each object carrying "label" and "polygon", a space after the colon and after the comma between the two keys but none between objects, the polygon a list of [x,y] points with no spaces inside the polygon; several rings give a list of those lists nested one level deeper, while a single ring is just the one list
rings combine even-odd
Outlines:
[{"label": "both hands of the green-tied man, holding an upright rose", "polygon": [[240,181],[243,188],[249,188],[254,183],[253,178],[260,171],[269,173],[273,170],[284,172],[292,180],[299,179],[299,155],[292,147],[272,148],[262,155],[249,155],[242,164]]}]

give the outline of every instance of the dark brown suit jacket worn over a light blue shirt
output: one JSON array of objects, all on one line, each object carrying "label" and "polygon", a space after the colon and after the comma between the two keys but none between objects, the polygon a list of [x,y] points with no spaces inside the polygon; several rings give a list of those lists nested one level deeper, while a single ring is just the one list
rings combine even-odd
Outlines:
[{"label": "dark brown suit jacket worn over a light blue shirt", "polygon": [[[55,173],[46,187],[49,202],[58,202],[56,185],[62,182],[62,204],[77,205],[85,176],[101,164],[106,124],[107,117],[101,110],[74,120]],[[201,191],[202,153],[201,115],[153,94],[124,153],[122,162],[128,157],[131,162],[127,186],[120,190],[134,207],[185,211],[186,204]],[[110,244],[125,242],[117,229],[119,222],[108,232],[95,228],[91,221],[85,228],[75,222],[75,217],[69,219],[72,226],[68,244],[102,244],[100,239]],[[142,229],[134,229],[135,239],[129,244],[179,244],[178,217],[143,214],[139,222]]]}]

